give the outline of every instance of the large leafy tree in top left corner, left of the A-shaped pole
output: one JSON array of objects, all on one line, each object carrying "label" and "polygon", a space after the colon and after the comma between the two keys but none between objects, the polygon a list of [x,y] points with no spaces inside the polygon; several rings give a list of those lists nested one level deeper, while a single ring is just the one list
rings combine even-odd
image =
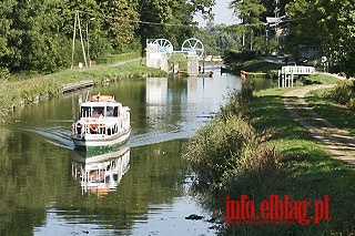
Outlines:
[{"label": "large leafy tree in top left corner, left of the A-shaped pole", "polygon": [[[24,0],[3,2],[0,30],[1,63],[12,72],[54,71],[65,65],[68,41],[58,32],[52,11],[59,1]],[[68,52],[68,51],[67,51]]]}]

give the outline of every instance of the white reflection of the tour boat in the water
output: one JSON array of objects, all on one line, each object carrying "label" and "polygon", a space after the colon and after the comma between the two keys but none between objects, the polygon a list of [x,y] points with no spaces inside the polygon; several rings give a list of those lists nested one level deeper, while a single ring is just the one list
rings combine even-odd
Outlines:
[{"label": "white reflection of the tour boat in the water", "polygon": [[72,177],[80,179],[82,195],[104,197],[115,191],[130,168],[130,148],[121,146],[108,153],[73,152]]}]

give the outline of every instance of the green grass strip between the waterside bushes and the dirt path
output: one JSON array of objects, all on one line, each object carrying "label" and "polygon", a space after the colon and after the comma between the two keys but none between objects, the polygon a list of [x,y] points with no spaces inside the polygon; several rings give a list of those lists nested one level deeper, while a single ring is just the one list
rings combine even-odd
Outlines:
[{"label": "green grass strip between the waterside bushes and the dirt path", "polygon": [[[256,93],[252,113],[253,125],[263,131],[271,129],[270,137],[280,152],[282,168],[262,182],[253,177],[234,179],[227,194],[255,197],[255,202],[270,194],[287,194],[294,199],[315,201],[329,195],[331,219],[320,225],[296,226],[233,226],[225,235],[351,235],[355,232],[355,172],[314,142],[310,133],[293,121],[285,110],[281,90]],[[332,113],[332,112],[331,112]],[[348,120],[349,116],[347,116]]]}]

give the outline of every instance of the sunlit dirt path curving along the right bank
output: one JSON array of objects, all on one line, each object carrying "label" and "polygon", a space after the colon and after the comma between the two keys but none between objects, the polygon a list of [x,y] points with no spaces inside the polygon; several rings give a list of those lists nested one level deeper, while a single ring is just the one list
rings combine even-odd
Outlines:
[{"label": "sunlit dirt path curving along the right bank", "polygon": [[336,158],[348,163],[355,168],[355,138],[347,131],[339,130],[328,121],[321,117],[305,101],[305,94],[313,90],[332,88],[331,85],[313,85],[292,90],[284,94],[283,102],[291,115],[311,135],[328,148]]}]

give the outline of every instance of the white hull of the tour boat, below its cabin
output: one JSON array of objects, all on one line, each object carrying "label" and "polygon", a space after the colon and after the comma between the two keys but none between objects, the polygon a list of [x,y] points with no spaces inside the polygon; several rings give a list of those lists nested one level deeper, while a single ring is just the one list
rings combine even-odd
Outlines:
[{"label": "white hull of the tour boat, below its cabin", "polygon": [[112,135],[103,134],[84,134],[84,135],[72,135],[75,148],[88,150],[91,147],[112,146],[121,145],[125,143],[131,135],[131,129],[123,133],[116,133]]}]

